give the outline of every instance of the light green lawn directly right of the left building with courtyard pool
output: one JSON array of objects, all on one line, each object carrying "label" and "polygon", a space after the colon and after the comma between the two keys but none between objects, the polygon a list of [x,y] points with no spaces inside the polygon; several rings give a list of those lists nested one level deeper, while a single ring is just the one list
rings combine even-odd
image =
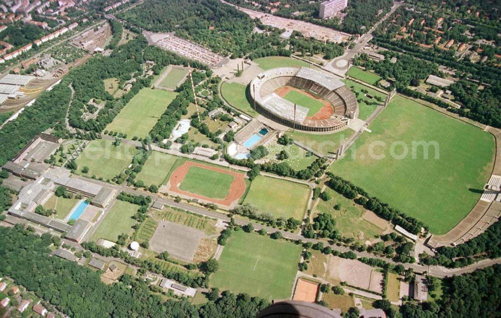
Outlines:
[{"label": "light green lawn directly right of the left building with courtyard pool", "polygon": [[135,222],[132,215],[136,214],[138,209],[139,205],[120,200],[115,201],[92,235],[91,240],[97,241],[99,238],[104,238],[115,242],[118,235],[130,231]]}]

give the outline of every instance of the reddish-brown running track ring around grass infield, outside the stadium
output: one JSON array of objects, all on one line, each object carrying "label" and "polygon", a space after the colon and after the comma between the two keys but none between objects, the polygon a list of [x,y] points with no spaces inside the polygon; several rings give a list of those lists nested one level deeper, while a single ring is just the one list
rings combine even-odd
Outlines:
[{"label": "reddish-brown running track ring around grass infield, outside the stadium", "polygon": [[[191,166],[198,166],[204,169],[220,172],[220,173],[226,173],[234,176],[233,182],[231,183],[230,189],[229,189],[229,194],[223,198],[223,199],[215,199],[212,197],[207,197],[203,195],[199,195],[196,193],[188,192],[188,191],[183,191],[179,188],[179,185],[182,183],[184,180],[184,177],[188,173],[188,170]],[[221,204],[225,206],[231,206],[234,203],[236,203],[240,197],[245,193],[245,178],[244,174],[240,172],[233,172],[227,169],[223,168],[217,168],[213,167],[210,165],[205,165],[202,163],[198,162],[193,162],[193,161],[186,161],[183,165],[175,169],[172,174],[170,175],[170,180],[169,183],[167,184],[169,191],[183,194],[189,197],[194,197],[194,198],[199,198],[202,200],[206,200],[209,202],[213,202],[216,204]]]}]

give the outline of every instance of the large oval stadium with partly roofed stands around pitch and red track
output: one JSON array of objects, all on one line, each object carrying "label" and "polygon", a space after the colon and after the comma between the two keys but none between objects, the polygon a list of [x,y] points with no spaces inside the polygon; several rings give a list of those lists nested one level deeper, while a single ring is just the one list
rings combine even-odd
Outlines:
[{"label": "large oval stadium with partly roofed stands around pitch and red track", "polygon": [[306,131],[334,131],[358,116],[355,96],[333,76],[308,67],[278,67],[250,82],[256,110]]}]

